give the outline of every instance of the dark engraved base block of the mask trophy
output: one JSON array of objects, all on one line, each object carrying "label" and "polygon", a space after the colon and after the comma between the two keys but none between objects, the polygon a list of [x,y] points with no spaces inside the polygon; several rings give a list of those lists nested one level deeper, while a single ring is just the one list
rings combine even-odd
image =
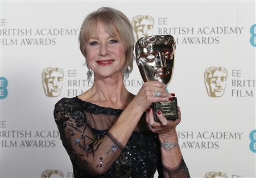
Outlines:
[{"label": "dark engraved base block of the mask trophy", "polygon": [[159,122],[159,118],[156,115],[157,111],[161,111],[167,120],[176,120],[179,118],[179,112],[177,109],[177,98],[172,97],[170,101],[158,102],[152,104],[152,111],[154,115],[154,120]]}]

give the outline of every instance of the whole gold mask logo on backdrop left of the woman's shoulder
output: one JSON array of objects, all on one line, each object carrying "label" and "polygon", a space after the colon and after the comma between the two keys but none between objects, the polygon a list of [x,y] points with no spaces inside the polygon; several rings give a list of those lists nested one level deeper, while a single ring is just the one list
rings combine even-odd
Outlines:
[{"label": "whole gold mask logo on backdrop left of the woman's shoulder", "polygon": [[63,86],[64,71],[58,67],[47,67],[42,71],[44,93],[48,97],[60,95]]}]

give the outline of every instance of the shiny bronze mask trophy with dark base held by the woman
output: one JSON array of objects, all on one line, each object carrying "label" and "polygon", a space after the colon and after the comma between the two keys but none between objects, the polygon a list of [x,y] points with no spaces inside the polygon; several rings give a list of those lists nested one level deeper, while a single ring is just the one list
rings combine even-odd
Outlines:
[{"label": "shiny bronze mask trophy with dark base held by the woman", "polygon": [[[174,52],[176,44],[171,35],[146,36],[135,45],[136,62],[144,82],[159,81],[168,85],[174,69]],[[159,96],[159,92],[154,92]],[[162,111],[167,120],[176,120],[178,116],[177,98],[152,104],[154,120],[159,121],[156,111]]]}]

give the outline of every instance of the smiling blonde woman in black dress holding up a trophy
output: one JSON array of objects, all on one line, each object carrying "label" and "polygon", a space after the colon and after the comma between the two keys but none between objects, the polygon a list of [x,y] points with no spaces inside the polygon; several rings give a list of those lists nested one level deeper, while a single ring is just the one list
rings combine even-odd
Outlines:
[{"label": "smiling blonde woman in black dress holding up a trophy", "polygon": [[[134,48],[126,16],[106,7],[92,12],[82,24],[79,42],[94,84],[80,96],[58,101],[54,111],[74,177],[153,177],[156,169],[159,177],[189,177],[175,131],[180,118],[167,121],[158,112],[160,122],[155,122],[149,108],[174,94],[156,81],[144,83],[136,96],[124,86],[123,78],[133,69]],[[173,148],[160,144],[164,141]]]}]

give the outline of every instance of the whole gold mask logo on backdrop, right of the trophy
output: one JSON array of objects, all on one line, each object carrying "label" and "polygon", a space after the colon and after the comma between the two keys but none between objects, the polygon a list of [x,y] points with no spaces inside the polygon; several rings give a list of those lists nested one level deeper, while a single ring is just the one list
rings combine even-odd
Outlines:
[{"label": "whole gold mask logo on backdrop, right of the trophy", "polygon": [[224,67],[208,67],[204,71],[204,83],[210,97],[221,97],[226,88],[228,70]]}]

